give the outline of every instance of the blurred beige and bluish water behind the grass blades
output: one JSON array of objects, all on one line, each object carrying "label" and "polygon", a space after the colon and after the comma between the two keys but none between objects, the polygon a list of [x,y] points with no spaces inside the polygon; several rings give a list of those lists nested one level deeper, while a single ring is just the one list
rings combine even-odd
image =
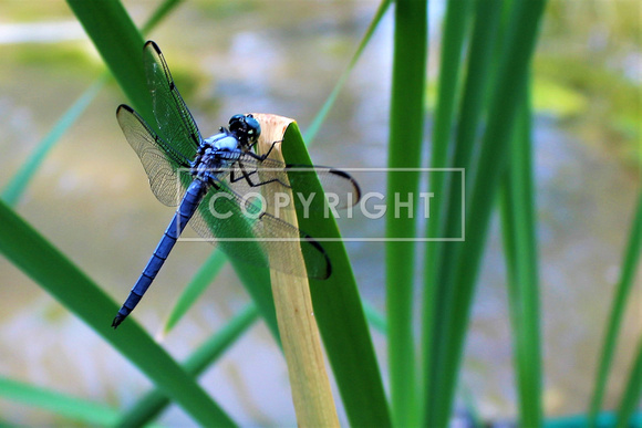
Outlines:
[{"label": "blurred beige and bluish water behind the grass blades", "polygon": [[[588,406],[640,191],[642,56],[634,3],[551,1],[538,45],[534,140],[549,416],[582,413]],[[124,4],[142,23],[157,2]],[[189,1],[149,39],[163,49],[204,136],[242,112],[293,117],[306,131],[376,7],[374,1]],[[431,8],[434,79],[444,4],[431,2]],[[0,11],[3,187],[103,65],[63,1],[4,1]],[[389,13],[383,20],[310,147],[315,164],[386,166],[391,18]],[[126,296],[173,215],[149,191],[116,123],[115,108],[126,102],[118,87],[108,84],[48,157],[17,208],[117,302]],[[385,191],[383,175],[355,175],[364,190]],[[514,372],[496,220],[474,305],[462,388],[485,419],[511,419]],[[375,223],[341,225],[346,233],[382,233]],[[383,244],[346,247],[363,297],[383,311]],[[210,250],[204,243],[176,247],[136,309],[135,316],[146,328],[159,328]],[[417,280],[420,274],[418,268]],[[0,293],[1,375],[121,408],[149,388],[135,367],[2,258]],[[234,271],[225,268],[165,346],[173,355],[186,356],[248,299]],[[607,406],[617,398],[617,380],[627,375],[633,338],[641,333],[640,288],[630,304]],[[384,338],[375,331],[373,338],[385,373]],[[262,323],[201,379],[244,426],[296,425],[284,361]],[[49,413],[1,398],[0,414],[14,424],[60,422]],[[175,406],[161,422],[191,424]]]}]

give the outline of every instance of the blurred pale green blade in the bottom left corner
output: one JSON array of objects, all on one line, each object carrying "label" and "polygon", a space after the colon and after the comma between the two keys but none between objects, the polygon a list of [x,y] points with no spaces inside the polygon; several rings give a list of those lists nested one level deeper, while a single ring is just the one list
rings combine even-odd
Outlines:
[{"label": "blurred pale green blade in the bottom left corner", "polygon": [[108,426],[118,418],[116,409],[6,377],[0,377],[0,395],[4,399],[55,411],[59,416],[94,426]]}]

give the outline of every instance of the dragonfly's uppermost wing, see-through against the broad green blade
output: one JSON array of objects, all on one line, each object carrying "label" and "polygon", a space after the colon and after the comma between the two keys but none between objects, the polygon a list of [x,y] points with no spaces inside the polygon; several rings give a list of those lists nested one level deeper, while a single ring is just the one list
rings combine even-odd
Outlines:
[{"label": "dragonfly's uppermost wing, see-through against the broad green blade", "polygon": [[180,155],[194,159],[201,142],[200,132],[174,84],[161,49],[153,41],[145,43],[143,63],[161,135]]}]

